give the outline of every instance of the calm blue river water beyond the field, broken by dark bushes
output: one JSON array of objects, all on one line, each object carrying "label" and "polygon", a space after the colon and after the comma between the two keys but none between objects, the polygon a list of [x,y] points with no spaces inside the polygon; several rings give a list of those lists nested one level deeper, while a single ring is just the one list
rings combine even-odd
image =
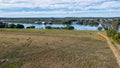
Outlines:
[{"label": "calm blue river water beyond the field, broken by dark bushes", "polygon": [[[9,24],[11,24],[11,22],[8,22]],[[43,24],[30,24],[30,23],[14,23],[14,24],[23,24],[26,27],[28,26],[35,26],[35,28],[44,28],[45,26],[51,26],[51,27],[66,27],[66,25],[63,24],[47,24],[47,25],[43,25]],[[99,26],[101,26],[100,24],[98,26],[90,26],[90,25],[80,25],[80,24],[72,24],[71,26],[73,26],[75,28],[75,30],[97,30],[97,28]]]}]

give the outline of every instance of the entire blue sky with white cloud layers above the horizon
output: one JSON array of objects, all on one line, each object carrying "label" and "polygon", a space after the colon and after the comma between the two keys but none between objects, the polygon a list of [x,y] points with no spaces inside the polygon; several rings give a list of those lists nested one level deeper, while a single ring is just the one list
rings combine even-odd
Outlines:
[{"label": "entire blue sky with white cloud layers above the horizon", "polygon": [[0,17],[120,17],[120,0],[0,0]]}]

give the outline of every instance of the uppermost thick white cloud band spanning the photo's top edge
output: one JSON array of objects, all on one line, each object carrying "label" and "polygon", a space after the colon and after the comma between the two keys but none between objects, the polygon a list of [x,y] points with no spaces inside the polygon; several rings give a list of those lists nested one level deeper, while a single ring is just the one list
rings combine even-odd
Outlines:
[{"label": "uppermost thick white cloud band spanning the photo's top edge", "polygon": [[120,7],[114,0],[0,0],[0,8],[102,9]]}]

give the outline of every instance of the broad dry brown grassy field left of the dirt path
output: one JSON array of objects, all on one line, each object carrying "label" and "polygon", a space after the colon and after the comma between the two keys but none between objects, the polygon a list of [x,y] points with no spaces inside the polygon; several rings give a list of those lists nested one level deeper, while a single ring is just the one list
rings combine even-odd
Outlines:
[{"label": "broad dry brown grassy field left of the dirt path", "polygon": [[97,31],[0,29],[0,68],[119,67]]}]

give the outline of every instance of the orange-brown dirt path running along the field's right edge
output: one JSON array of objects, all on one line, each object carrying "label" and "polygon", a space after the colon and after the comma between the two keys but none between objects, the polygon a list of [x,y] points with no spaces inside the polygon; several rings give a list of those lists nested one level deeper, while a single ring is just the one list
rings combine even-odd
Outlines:
[{"label": "orange-brown dirt path running along the field's right edge", "polygon": [[117,60],[118,65],[119,65],[119,67],[120,67],[120,52],[119,52],[119,50],[115,47],[115,45],[110,41],[110,39],[109,39],[107,36],[105,36],[105,35],[103,35],[103,34],[101,34],[101,33],[98,33],[98,34],[99,34],[99,36],[100,36],[101,38],[103,38],[103,39],[105,39],[105,40],[107,41],[110,49],[112,50],[113,54],[114,54],[115,57],[116,57],[116,60]]}]

